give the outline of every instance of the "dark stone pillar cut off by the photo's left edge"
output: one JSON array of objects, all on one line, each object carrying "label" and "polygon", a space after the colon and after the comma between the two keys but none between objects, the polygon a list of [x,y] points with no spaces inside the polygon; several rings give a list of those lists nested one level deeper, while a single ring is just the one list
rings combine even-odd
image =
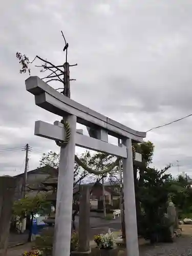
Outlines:
[{"label": "dark stone pillar cut off by the photo's left edge", "polygon": [[0,256],[7,254],[15,186],[15,178],[0,177]]}]

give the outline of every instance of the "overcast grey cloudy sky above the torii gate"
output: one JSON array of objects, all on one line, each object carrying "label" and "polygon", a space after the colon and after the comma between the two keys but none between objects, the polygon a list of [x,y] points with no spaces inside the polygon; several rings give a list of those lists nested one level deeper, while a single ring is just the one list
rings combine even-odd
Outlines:
[{"label": "overcast grey cloudy sky above the torii gate", "polygon": [[[24,171],[26,143],[33,148],[29,169],[55,142],[34,136],[36,120],[60,117],[35,106],[19,74],[16,51],[38,54],[56,65],[69,42],[71,98],[132,129],[154,126],[192,113],[191,0],[4,1],[0,10],[0,175]],[[32,66],[31,66],[32,68]],[[38,68],[31,75],[40,76]],[[58,84],[51,84],[54,88]],[[192,117],[147,133],[154,163],[172,162],[172,174],[192,175]],[[10,149],[12,148],[12,149]],[[79,150],[77,149],[77,153]]]}]

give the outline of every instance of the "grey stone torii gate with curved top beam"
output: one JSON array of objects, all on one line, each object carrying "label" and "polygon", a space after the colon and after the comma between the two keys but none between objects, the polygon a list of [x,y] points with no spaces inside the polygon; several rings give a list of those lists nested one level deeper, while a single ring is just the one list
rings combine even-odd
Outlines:
[{"label": "grey stone torii gate with curved top beam", "polygon": [[[122,158],[127,256],[139,256],[132,141],[142,142],[146,133],[132,130],[77,103],[57,92],[37,76],[26,80],[26,90],[35,96],[36,105],[65,117],[71,129],[68,144],[60,148],[53,255],[70,256],[74,157],[77,145]],[[86,125],[90,137],[83,135],[82,130],[76,130],[76,123]],[[65,141],[66,132],[63,124],[58,121],[54,124],[36,121],[35,135]],[[122,144],[116,146],[108,143],[108,135],[121,139]]]}]

